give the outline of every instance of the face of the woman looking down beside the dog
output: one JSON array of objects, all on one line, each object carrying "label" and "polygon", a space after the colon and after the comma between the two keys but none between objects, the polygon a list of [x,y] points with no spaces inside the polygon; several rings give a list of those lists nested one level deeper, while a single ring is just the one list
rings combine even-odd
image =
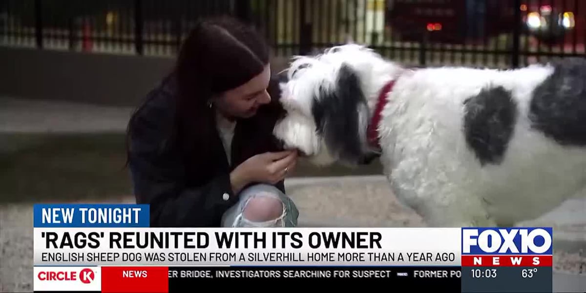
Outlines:
[{"label": "face of the woman looking down beside the dog", "polygon": [[214,100],[214,105],[228,118],[249,118],[256,114],[258,107],[271,101],[267,92],[271,79],[271,68],[265,66],[263,72],[247,83],[225,91]]}]

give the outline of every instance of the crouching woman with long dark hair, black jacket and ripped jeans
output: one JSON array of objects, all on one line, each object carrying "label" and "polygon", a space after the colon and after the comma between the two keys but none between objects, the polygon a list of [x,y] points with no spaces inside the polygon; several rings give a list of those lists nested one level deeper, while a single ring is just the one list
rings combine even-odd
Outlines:
[{"label": "crouching woman with long dark hair, black jacket and ripped jeans", "polygon": [[[269,94],[270,92],[270,94]],[[137,203],[154,227],[291,227],[297,153],[272,136],[282,109],[268,46],[231,18],[190,32],[175,69],[128,125]]]}]

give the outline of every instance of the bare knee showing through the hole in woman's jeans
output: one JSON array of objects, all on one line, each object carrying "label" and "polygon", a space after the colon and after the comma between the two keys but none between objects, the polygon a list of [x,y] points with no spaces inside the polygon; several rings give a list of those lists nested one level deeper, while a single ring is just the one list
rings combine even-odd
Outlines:
[{"label": "bare knee showing through the hole in woman's jeans", "polygon": [[259,193],[251,197],[244,207],[242,216],[251,222],[266,222],[278,219],[284,211],[284,204],[275,196]]}]

